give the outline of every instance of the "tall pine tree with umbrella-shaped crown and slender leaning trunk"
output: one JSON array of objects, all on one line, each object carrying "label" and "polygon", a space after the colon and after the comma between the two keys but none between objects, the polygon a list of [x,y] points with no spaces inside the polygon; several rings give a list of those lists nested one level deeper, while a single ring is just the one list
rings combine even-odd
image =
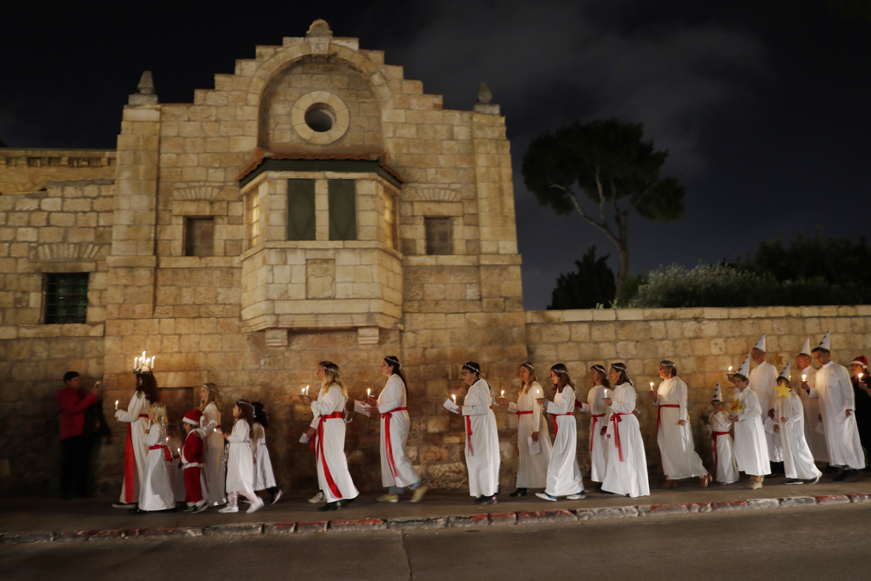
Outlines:
[{"label": "tall pine tree with umbrella-shaped crown and slender leaning trunk", "polygon": [[[539,204],[559,215],[577,212],[618,248],[618,287],[629,273],[630,213],[670,222],[685,210],[684,187],[659,176],[668,152],[643,137],[641,124],[576,122],[534,138],[523,156],[523,180]],[[592,209],[584,207],[589,202]]]}]

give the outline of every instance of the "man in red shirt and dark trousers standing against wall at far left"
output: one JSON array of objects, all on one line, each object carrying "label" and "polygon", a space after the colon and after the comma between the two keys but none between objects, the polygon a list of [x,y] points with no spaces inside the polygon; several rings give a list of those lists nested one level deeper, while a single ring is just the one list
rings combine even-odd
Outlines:
[{"label": "man in red shirt and dark trousers standing against wall at far left", "polygon": [[98,384],[85,394],[81,378],[75,371],[64,374],[66,387],[57,392],[57,407],[60,408],[60,442],[63,447],[63,463],[60,470],[60,496],[72,497],[72,486],[80,497],[87,496],[88,456],[90,446],[84,435],[84,410],[97,401]]}]

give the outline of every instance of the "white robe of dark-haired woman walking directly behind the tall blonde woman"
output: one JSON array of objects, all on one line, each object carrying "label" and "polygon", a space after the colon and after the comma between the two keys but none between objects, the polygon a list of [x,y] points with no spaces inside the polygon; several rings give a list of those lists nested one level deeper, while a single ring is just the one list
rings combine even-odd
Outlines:
[{"label": "white robe of dark-haired woman walking directly behind the tall blonde woman", "polygon": [[[381,414],[381,485],[404,488],[421,480],[414,465],[405,453],[405,444],[408,441],[408,430],[411,429],[411,418],[408,410],[402,409],[390,414],[390,450],[387,451],[387,418],[383,414],[394,409],[404,408],[408,404],[408,394],[405,383],[399,375],[390,375],[387,384],[378,395],[378,412]],[[396,470],[396,476],[391,469]]]}]

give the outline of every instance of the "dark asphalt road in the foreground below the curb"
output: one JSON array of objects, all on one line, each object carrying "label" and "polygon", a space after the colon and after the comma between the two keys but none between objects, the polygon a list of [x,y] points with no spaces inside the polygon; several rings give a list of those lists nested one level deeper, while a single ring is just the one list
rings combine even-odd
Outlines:
[{"label": "dark asphalt road in the foreground below the curb", "polygon": [[871,503],[476,530],[0,546],[13,579],[657,579],[871,574]]}]

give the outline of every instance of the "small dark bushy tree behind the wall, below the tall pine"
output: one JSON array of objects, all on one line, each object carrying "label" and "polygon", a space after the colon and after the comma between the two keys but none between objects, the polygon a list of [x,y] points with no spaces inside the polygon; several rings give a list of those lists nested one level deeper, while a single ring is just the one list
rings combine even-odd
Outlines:
[{"label": "small dark bushy tree behind the wall, below the tall pine", "polygon": [[609,305],[617,294],[614,271],[608,266],[608,257],[596,258],[596,247],[587,249],[581,260],[575,260],[577,272],[560,274],[557,287],[550,295],[548,309],[595,308]]}]

